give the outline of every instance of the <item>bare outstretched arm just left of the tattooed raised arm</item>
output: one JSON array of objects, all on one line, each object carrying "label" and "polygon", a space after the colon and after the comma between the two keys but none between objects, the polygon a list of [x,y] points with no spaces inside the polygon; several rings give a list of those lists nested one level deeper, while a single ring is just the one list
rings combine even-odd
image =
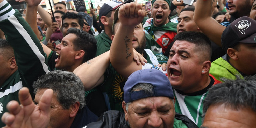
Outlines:
[{"label": "bare outstretched arm just left of the tattooed raised arm", "polygon": [[104,73],[109,65],[109,51],[107,51],[78,66],[73,73],[80,77],[87,91],[103,83]]}]

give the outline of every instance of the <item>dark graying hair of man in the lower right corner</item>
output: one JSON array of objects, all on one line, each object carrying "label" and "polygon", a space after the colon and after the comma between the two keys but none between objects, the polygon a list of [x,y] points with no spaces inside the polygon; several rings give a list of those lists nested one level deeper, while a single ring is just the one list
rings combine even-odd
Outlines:
[{"label": "dark graying hair of man in the lower right corner", "polygon": [[224,83],[214,85],[203,101],[202,122],[207,109],[214,104],[225,104],[234,110],[252,108],[256,112],[256,75],[236,80],[222,79]]}]

